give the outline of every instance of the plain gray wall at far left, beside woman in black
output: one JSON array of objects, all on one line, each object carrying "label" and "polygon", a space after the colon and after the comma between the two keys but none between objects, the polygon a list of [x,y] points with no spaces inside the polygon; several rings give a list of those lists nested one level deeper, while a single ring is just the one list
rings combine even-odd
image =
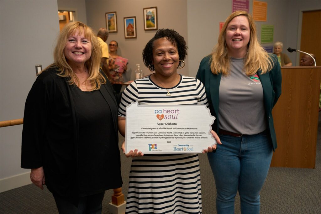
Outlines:
[{"label": "plain gray wall at far left, beside woman in black", "polygon": [[[0,1],[0,120],[23,117],[36,64],[53,62],[59,33],[56,0]],[[20,168],[22,125],[0,128],[0,192],[31,183]]]}]

